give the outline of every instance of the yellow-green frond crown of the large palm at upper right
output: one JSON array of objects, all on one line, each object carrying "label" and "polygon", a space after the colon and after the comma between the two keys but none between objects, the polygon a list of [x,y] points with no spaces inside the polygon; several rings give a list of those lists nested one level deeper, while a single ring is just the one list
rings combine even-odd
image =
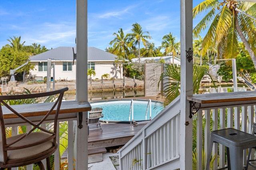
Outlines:
[{"label": "yellow-green frond crown of the large palm at upper right", "polygon": [[[206,10],[208,14],[193,30],[194,37],[198,38],[200,33],[208,28],[202,44],[202,54],[205,55],[207,49],[214,44],[218,57],[235,58],[239,53],[240,38],[256,68],[256,3],[204,0],[193,9],[193,17]],[[247,14],[244,15],[244,12]]]}]

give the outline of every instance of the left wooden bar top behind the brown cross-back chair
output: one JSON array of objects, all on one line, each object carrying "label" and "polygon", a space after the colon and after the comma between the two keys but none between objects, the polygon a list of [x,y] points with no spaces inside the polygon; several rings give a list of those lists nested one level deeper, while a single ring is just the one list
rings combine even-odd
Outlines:
[{"label": "left wooden bar top behind the brown cross-back chair", "polygon": [[[30,116],[41,116],[45,115],[50,108],[53,106],[53,103],[36,103],[36,104],[20,104],[12,105],[11,107],[15,109],[18,113],[21,113],[24,117]],[[56,108],[56,107],[55,107]],[[18,117],[12,111],[7,109],[5,106],[2,106],[4,119],[11,119]],[[60,114],[64,113],[76,113],[83,111],[90,111],[92,107],[89,102],[76,102],[76,101],[64,101],[60,107]],[[54,109],[51,114],[55,114]]]}]

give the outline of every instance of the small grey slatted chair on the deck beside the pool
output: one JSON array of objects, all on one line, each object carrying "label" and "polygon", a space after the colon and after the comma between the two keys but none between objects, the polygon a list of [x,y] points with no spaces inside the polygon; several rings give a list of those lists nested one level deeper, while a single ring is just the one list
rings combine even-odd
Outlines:
[{"label": "small grey slatted chair on the deck beside the pool", "polygon": [[[103,109],[101,107],[95,107],[92,108],[92,110],[89,112],[89,116],[88,116],[88,134],[89,131],[92,130],[97,130],[97,129],[101,129],[102,131],[102,127],[100,124],[100,118],[103,117],[104,115],[102,114]],[[96,128],[90,129],[89,127],[92,125],[97,125]],[[99,125],[99,127],[98,127]]]}]

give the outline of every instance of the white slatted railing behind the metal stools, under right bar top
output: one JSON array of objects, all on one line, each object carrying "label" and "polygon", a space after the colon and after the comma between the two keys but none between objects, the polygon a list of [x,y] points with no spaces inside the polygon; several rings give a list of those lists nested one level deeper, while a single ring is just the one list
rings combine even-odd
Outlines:
[{"label": "white slatted railing behind the metal stools, under right bar top", "polygon": [[[196,135],[196,169],[202,170],[206,166],[206,156],[209,147],[210,131],[235,128],[251,133],[252,123],[255,122],[255,104],[236,104],[222,107],[206,107],[199,109],[194,116],[194,135]],[[204,141],[204,142],[203,142]],[[214,143],[212,155],[212,169],[224,168],[226,165],[225,147]],[[219,153],[219,154],[218,154]],[[202,155],[204,154],[204,156]],[[247,150],[244,150],[244,163],[246,163]],[[204,157],[204,162],[202,160]],[[219,162],[218,162],[219,158]]]}]

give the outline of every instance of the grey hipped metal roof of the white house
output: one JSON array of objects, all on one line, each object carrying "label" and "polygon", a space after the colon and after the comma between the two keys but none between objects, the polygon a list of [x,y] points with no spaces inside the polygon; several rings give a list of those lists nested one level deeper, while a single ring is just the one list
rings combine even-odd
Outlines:
[{"label": "grey hipped metal roof of the white house", "polygon": [[[74,48],[74,52],[76,53],[76,47],[57,47],[55,49],[30,57],[30,61],[47,61],[48,59],[56,61],[73,61],[72,48]],[[88,47],[88,62],[112,62],[116,60],[115,57],[117,57],[117,55],[108,53],[95,47]]]}]

